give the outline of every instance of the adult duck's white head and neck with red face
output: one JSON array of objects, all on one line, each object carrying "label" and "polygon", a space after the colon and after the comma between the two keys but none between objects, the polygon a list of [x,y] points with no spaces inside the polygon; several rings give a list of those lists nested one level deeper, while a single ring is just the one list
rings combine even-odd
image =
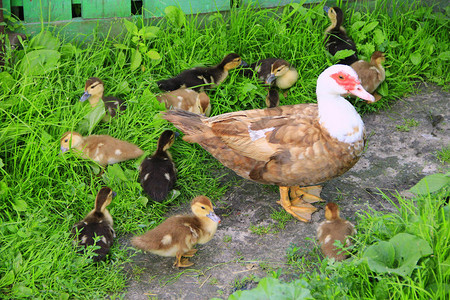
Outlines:
[{"label": "adult duck's white head and neck with red face", "polygon": [[375,97],[362,87],[358,74],[349,66],[331,66],[317,79],[321,126],[339,141],[355,143],[364,137],[364,123],[353,105],[341,96],[349,93],[370,102],[375,101]]}]

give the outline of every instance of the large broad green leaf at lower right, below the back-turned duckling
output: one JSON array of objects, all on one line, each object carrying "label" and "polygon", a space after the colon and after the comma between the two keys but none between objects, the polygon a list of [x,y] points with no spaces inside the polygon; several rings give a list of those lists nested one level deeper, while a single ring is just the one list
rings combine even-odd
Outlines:
[{"label": "large broad green leaf at lower right, below the back-turned duckling", "polygon": [[388,242],[372,245],[363,257],[373,272],[410,276],[421,257],[433,253],[428,243],[412,234],[399,233]]}]

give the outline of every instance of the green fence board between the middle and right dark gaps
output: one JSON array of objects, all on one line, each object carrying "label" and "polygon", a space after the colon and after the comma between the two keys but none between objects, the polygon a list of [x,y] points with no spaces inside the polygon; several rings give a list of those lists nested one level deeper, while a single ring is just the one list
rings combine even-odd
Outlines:
[{"label": "green fence board between the middle and right dark gaps", "polygon": [[131,16],[130,0],[82,0],[81,2],[81,17],[83,19],[129,16]]}]

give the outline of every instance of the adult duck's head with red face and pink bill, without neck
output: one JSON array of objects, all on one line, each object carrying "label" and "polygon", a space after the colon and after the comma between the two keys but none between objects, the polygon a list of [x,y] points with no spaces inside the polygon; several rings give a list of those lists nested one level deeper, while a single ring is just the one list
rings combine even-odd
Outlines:
[{"label": "adult duck's head with red face and pink bill, without neck", "polygon": [[361,99],[374,102],[375,97],[369,94],[361,85],[358,74],[350,66],[333,65],[317,78],[316,93],[319,95],[353,94]]}]

